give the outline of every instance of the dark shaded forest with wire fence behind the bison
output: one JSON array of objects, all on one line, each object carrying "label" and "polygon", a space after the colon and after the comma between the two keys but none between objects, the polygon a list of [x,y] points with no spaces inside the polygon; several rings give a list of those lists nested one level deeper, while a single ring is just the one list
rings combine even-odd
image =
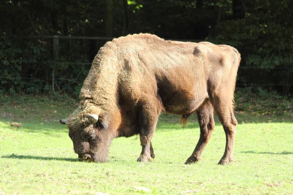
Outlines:
[{"label": "dark shaded forest with wire fence behind the bison", "polygon": [[234,46],[237,89],[293,93],[293,0],[0,0],[0,94],[78,97],[99,48],[141,32]]}]

